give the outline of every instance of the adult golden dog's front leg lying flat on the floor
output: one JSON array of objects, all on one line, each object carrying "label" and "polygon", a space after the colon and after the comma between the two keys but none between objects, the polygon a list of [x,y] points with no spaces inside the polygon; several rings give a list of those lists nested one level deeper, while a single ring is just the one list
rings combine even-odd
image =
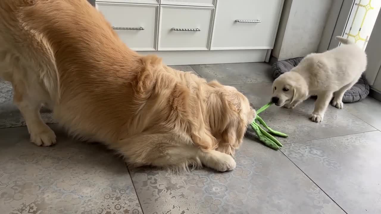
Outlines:
[{"label": "adult golden dog's front leg lying flat on the floor", "polygon": [[216,150],[203,151],[192,142],[173,134],[138,134],[110,147],[118,150],[131,166],[157,166],[174,171],[197,168],[201,165],[217,171],[235,168],[234,159]]}]

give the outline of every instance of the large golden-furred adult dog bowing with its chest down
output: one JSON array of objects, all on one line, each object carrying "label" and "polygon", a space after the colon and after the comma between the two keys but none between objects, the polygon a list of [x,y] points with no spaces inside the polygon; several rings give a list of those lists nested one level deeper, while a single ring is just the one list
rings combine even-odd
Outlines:
[{"label": "large golden-furred adult dog bowing with its chest down", "polygon": [[56,142],[39,114],[45,104],[70,133],[133,166],[232,170],[255,117],[234,87],[130,50],[86,0],[1,0],[0,76],[32,142]]}]

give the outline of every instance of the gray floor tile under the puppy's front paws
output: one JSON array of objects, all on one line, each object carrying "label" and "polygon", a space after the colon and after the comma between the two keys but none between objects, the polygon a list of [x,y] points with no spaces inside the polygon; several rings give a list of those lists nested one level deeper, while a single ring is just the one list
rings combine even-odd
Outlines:
[{"label": "gray floor tile under the puppy's front paws", "polygon": [[[271,85],[271,83],[260,83],[235,85],[235,87],[248,97],[256,109],[259,109],[270,101]],[[324,120],[321,123],[315,123],[309,120],[313,109],[314,100],[309,99],[294,109],[273,105],[259,116],[271,128],[290,136],[278,138],[283,144],[376,130],[351,113],[331,105],[325,113]],[[253,133],[250,128],[248,130]]]}]

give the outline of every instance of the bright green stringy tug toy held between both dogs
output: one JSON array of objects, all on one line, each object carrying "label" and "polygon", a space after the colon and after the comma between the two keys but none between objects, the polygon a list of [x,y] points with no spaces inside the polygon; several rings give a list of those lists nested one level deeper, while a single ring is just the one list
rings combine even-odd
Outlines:
[{"label": "bright green stringy tug toy held between both dogs", "polygon": [[[263,142],[266,146],[270,147],[271,149],[278,150],[279,147],[282,147],[283,145],[271,134],[274,134],[280,137],[288,137],[288,135],[271,129],[269,126],[266,125],[266,123],[262,120],[262,118],[258,116],[259,113],[266,110],[270,105],[272,105],[272,102],[269,102],[268,104],[264,105],[263,107],[261,107],[260,109],[256,111],[257,116],[255,117],[254,121],[250,124],[250,126],[251,128],[254,129],[255,134],[258,136],[261,142]],[[258,121],[259,123],[256,123],[256,121]],[[264,130],[260,125],[266,128],[268,132]]]}]

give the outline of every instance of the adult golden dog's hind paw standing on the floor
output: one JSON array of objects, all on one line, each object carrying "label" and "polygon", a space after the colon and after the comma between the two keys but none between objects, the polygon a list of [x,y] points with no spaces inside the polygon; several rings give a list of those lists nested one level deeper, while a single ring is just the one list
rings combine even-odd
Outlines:
[{"label": "adult golden dog's hind paw standing on the floor", "polygon": [[51,146],[56,144],[56,134],[45,125],[30,132],[30,141],[38,146]]}]

